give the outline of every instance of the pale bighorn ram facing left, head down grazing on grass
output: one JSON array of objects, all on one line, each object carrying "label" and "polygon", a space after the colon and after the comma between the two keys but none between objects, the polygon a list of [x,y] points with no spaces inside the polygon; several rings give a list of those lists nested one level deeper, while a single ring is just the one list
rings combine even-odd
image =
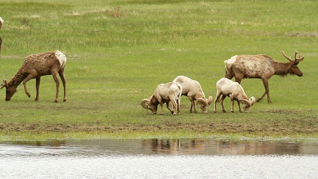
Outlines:
[{"label": "pale bighorn ram facing left, head down grazing on grass", "polygon": [[[145,109],[150,109],[154,114],[157,113],[158,104],[161,107],[161,113],[163,114],[163,103],[167,104],[169,111],[175,115],[176,110],[180,113],[180,98],[182,94],[182,86],[175,82],[166,84],[160,84],[157,86],[155,93],[148,99],[143,99],[141,105]],[[172,102],[172,110],[169,107],[169,102]]]}]

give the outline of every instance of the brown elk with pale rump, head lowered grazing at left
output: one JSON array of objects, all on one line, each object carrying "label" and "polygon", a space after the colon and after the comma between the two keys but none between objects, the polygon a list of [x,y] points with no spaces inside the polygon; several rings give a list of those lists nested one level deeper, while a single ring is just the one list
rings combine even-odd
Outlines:
[{"label": "brown elk with pale rump, head lowered grazing at left", "polygon": [[18,85],[23,81],[24,91],[30,97],[30,93],[26,89],[26,82],[31,79],[36,79],[36,97],[35,100],[39,100],[39,86],[42,76],[52,75],[56,83],[56,98],[54,102],[59,100],[59,88],[60,81],[58,79],[58,74],[61,77],[63,87],[64,87],[64,99],[66,101],[66,81],[64,77],[64,67],[66,64],[65,55],[60,52],[44,52],[39,54],[32,54],[26,57],[22,67],[18,70],[12,80],[7,83],[6,80],[3,80],[1,88],[6,88],[5,90],[5,100],[8,101],[11,99],[12,95],[15,93]]}]

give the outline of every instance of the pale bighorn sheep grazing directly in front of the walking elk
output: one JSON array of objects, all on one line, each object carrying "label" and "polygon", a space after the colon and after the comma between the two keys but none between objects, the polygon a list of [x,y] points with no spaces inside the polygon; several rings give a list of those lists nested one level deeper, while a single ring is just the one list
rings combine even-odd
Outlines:
[{"label": "pale bighorn sheep grazing directly in front of the walking elk", "polygon": [[[232,102],[231,111],[234,112],[234,100],[238,101],[238,105],[241,102],[244,112],[248,112],[249,107],[251,107],[255,103],[255,97],[252,96],[248,99],[247,95],[244,92],[244,89],[237,82],[233,82],[227,78],[222,78],[217,82],[217,94],[215,95],[214,100],[214,112],[217,111],[217,102],[220,99],[222,111],[226,112],[223,106],[223,100],[226,96],[229,96]],[[239,112],[242,112],[239,106]]]}]

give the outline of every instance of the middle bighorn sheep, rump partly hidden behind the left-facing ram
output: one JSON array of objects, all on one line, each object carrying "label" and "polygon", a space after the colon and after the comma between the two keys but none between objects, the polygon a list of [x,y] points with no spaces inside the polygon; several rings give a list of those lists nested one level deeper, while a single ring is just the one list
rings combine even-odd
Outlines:
[{"label": "middle bighorn sheep, rump partly hidden behind the left-facing ram", "polygon": [[202,112],[207,113],[207,108],[212,103],[213,97],[210,95],[209,98],[205,98],[199,82],[184,76],[177,76],[173,82],[177,82],[182,86],[182,95],[188,96],[191,101],[190,112],[192,112],[193,106],[194,113],[197,113],[194,105],[194,101],[196,100]]}]

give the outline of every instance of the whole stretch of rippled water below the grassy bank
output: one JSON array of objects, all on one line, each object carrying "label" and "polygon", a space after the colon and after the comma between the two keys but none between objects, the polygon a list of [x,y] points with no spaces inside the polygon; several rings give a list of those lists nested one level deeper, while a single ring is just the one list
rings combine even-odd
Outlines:
[{"label": "whole stretch of rippled water below the grassy bank", "polygon": [[318,144],[97,140],[0,144],[0,179],[315,179]]}]

